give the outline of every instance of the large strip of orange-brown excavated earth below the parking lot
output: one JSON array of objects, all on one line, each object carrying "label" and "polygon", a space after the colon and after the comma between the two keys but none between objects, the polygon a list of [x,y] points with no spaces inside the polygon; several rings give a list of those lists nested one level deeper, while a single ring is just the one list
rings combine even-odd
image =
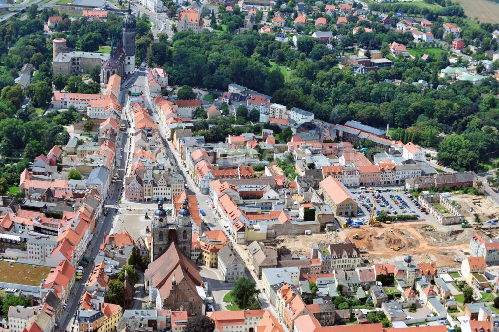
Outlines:
[{"label": "large strip of orange-brown excavated earth below the parking lot", "polygon": [[[474,232],[472,229],[437,232],[426,222],[407,222],[377,228],[349,228],[339,233],[280,236],[270,245],[286,247],[293,253],[309,256],[313,244],[339,243],[349,238],[357,247],[366,249],[366,258],[373,262],[393,262],[394,259],[402,260],[406,255],[411,255],[416,262],[436,260],[439,266],[453,266],[459,264],[454,262],[456,257],[464,257],[460,250],[468,249]],[[354,240],[355,234],[362,239]],[[394,251],[392,247],[401,249]]]}]

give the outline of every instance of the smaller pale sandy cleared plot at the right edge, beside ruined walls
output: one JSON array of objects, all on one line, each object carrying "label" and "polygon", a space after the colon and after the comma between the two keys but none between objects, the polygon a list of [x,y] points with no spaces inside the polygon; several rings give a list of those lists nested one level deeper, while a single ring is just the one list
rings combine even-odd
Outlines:
[{"label": "smaller pale sandy cleared plot at the right edge, beside ruined walls", "polygon": [[[485,196],[463,194],[452,195],[450,199],[459,204],[461,213],[470,222],[475,220],[474,213],[478,213],[482,221],[499,218],[499,207]],[[475,211],[470,211],[470,207]]]}]

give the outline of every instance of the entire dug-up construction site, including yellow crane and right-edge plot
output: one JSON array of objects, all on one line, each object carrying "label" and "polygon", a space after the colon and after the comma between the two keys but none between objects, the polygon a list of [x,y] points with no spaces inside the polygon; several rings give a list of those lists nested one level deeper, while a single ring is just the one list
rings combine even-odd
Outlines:
[{"label": "entire dug-up construction site, including yellow crane and right-edge plot", "polygon": [[[388,263],[411,255],[415,262],[434,260],[439,266],[456,266],[466,258],[470,238],[477,230],[482,229],[485,236],[499,236],[499,222],[487,223],[499,218],[499,207],[485,196],[453,193],[449,199],[456,202],[470,226],[443,226],[430,220],[385,224],[376,222],[372,210],[367,225],[346,221],[348,226],[339,232],[279,236],[266,245],[286,247],[293,254],[309,256],[312,245],[340,243],[348,238],[362,249],[370,263]],[[475,214],[480,224],[475,223]]]}]

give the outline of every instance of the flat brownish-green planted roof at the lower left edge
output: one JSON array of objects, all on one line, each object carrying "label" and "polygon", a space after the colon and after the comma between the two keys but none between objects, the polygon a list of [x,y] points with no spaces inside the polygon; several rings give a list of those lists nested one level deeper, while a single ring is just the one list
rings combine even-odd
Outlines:
[{"label": "flat brownish-green planted roof at the lower left edge", "polygon": [[0,271],[0,282],[40,286],[40,281],[47,278],[50,268],[0,261]]}]

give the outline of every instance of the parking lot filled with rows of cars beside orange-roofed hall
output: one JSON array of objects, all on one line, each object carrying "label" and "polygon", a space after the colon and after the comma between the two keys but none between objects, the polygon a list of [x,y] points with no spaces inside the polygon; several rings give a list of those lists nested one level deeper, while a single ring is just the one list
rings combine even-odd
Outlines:
[{"label": "parking lot filled with rows of cars beside orange-roofed hall", "polygon": [[426,214],[424,208],[421,208],[417,200],[406,192],[403,188],[375,188],[360,190],[350,189],[350,192],[356,197],[358,202],[357,218],[367,222],[375,202],[375,214],[380,211],[386,211],[388,216],[397,215],[416,215],[418,219],[423,218],[432,220],[433,218]]}]

